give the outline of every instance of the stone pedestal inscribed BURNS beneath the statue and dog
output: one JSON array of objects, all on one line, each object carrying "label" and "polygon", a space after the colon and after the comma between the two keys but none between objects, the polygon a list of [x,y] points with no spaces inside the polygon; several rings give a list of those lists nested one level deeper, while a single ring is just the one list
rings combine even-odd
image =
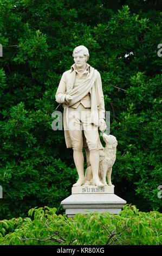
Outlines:
[{"label": "stone pedestal inscribed BURNS beneath the statue and dog", "polygon": [[77,213],[106,212],[119,214],[126,201],[114,194],[114,187],[81,186],[72,187],[71,196],[61,202],[68,217]]}]

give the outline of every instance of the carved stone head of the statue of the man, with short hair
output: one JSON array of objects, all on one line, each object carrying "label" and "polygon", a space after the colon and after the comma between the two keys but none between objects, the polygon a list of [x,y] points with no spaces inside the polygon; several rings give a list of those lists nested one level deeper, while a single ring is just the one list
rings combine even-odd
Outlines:
[{"label": "carved stone head of the statue of the man, with short hair", "polygon": [[76,66],[81,67],[85,65],[89,59],[88,49],[83,45],[77,46],[73,51],[73,58]]}]

